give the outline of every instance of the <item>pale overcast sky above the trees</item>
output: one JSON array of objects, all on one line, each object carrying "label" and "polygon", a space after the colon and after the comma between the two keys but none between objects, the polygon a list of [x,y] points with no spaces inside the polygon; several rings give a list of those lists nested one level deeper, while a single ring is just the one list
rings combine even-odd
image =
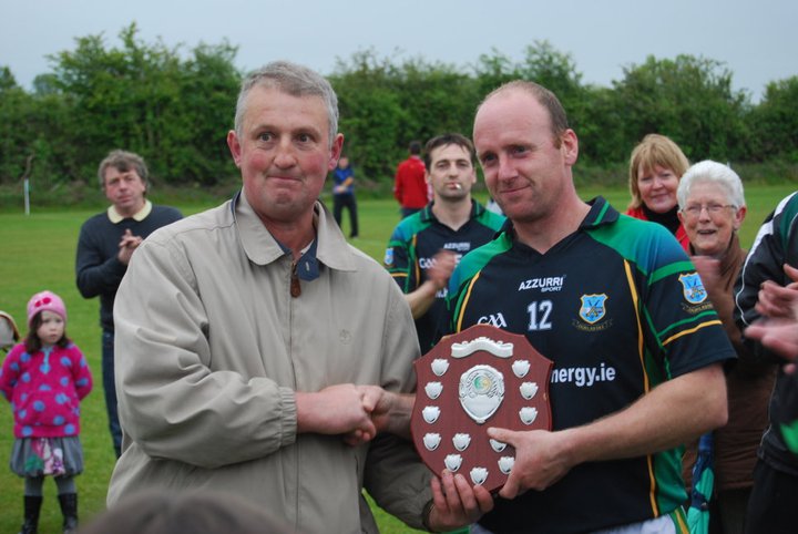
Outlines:
[{"label": "pale overcast sky above the trees", "polygon": [[368,48],[466,66],[493,49],[520,60],[548,40],[584,83],[604,86],[649,54],[722,61],[755,101],[768,82],[798,74],[797,0],[0,0],[0,65],[30,89],[51,70],[48,54],[100,33],[119,47],[133,21],[146,43],[226,38],[244,70],[286,59],[327,74]]}]

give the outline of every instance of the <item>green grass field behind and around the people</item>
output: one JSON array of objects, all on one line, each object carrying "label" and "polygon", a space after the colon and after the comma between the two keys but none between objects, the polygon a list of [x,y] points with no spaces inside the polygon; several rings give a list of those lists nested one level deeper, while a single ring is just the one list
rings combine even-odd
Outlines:
[{"label": "green grass field behind and around the people", "polygon": [[[747,186],[748,217],[740,230],[744,247],[750,245],[763,218],[785,195],[795,191],[792,185]],[[625,208],[628,193],[625,188],[591,191],[583,188],[583,198],[602,194],[617,208]],[[158,202],[157,196],[153,198]],[[221,199],[219,199],[221,202]],[[211,205],[180,206],[184,214],[200,212]],[[105,507],[105,491],[113,469],[114,456],[106,429],[102,382],[100,377],[99,302],[84,300],[74,285],[74,254],[81,224],[92,210],[43,210],[34,205],[25,216],[4,209],[0,213],[0,309],[10,312],[20,327],[25,322],[25,304],[31,295],[51,289],[66,302],[68,332],[83,350],[94,372],[94,391],[82,405],[81,440],[85,456],[85,472],[76,479],[80,514],[83,521]],[[398,222],[397,205],[392,199],[359,201],[360,237],[352,243],[381,260],[385,245]],[[345,214],[345,234],[348,219]],[[11,451],[12,418],[9,405],[0,402],[0,533],[14,533],[22,521],[23,481],[8,469]],[[408,532],[397,520],[377,512],[382,532]],[[61,515],[55,500],[54,484],[45,483],[40,532],[60,531]]]}]

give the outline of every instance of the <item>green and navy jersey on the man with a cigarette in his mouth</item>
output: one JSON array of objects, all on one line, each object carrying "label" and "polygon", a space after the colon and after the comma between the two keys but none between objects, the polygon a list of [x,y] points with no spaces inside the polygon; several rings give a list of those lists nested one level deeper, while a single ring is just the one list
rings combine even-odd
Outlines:
[{"label": "green and navy jersey on the man with a cigarette in his mouth", "polygon": [[[399,223],[388,242],[385,266],[402,292],[412,292],[427,280],[427,269],[441,249],[463,256],[493,239],[504,224],[504,216],[487,210],[475,201],[471,204],[469,220],[457,230],[436,218],[432,204]],[[438,321],[446,312],[446,288],[438,291],[427,314],[416,319],[422,353],[432,348]]]}]

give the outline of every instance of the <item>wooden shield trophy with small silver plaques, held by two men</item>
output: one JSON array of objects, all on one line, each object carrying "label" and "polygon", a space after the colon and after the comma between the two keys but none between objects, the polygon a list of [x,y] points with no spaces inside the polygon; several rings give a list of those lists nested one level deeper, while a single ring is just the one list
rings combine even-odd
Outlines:
[{"label": "wooden shield trophy with small silver plaques, held by two men", "polygon": [[551,430],[549,378],[553,362],[524,336],[474,325],[447,336],[415,363],[410,430],[436,474],[446,468],[497,491],[515,450],[488,438],[488,427]]}]

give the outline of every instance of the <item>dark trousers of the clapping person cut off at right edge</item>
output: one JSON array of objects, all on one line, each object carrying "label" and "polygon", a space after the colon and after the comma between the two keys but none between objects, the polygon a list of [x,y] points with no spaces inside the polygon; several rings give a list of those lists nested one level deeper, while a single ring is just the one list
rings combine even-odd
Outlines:
[{"label": "dark trousers of the clapping person cut off at right edge", "polygon": [[796,532],[795,505],[798,476],[778,471],[759,460],[754,469],[754,489],[748,500],[747,534]]}]

